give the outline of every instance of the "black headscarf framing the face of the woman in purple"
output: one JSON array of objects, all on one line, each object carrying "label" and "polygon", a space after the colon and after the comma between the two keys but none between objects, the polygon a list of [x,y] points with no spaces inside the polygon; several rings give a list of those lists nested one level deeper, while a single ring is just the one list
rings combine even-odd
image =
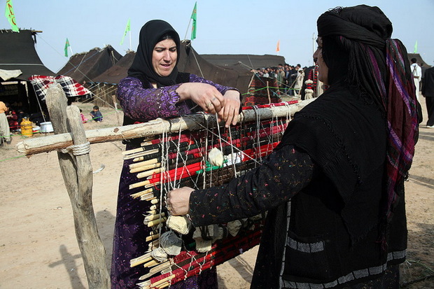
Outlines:
[{"label": "black headscarf framing the face of the woman in purple", "polygon": [[[169,34],[175,41],[178,57],[172,73],[169,76],[159,76],[155,73],[152,65],[152,54],[155,45],[162,41],[162,36]],[[176,66],[179,62],[180,41],[179,35],[173,27],[163,20],[151,20],[141,27],[139,35],[139,46],[134,61],[128,69],[128,76],[134,76],[140,80],[148,80],[157,83],[158,87],[174,85],[178,76]]]}]

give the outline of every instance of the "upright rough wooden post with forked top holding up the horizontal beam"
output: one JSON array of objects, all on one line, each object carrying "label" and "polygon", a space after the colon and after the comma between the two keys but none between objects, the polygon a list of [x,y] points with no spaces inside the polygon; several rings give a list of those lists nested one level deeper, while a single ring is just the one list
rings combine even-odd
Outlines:
[{"label": "upright rough wooden post with forked top holding up the horizontal beam", "polygon": [[[77,107],[66,107],[66,96],[59,84],[50,85],[46,104],[55,134],[71,131],[74,146],[87,143]],[[66,113],[65,113],[66,112]],[[67,119],[66,119],[67,115]],[[68,120],[68,121],[66,121]],[[105,264],[105,248],[99,237],[92,206],[92,164],[88,153],[57,153],[59,166],[73,211],[76,237],[89,288],[109,288],[109,272]]]}]

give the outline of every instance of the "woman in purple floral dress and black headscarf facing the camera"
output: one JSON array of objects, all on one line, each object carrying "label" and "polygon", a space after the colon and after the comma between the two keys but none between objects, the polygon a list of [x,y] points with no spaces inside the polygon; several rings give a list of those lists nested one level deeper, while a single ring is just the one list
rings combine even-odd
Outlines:
[{"label": "woman in purple floral dress and black headscarf facing the camera", "polygon": [[[141,28],[139,46],[128,76],[120,80],[117,96],[124,111],[124,125],[145,122],[155,118],[186,115],[202,108],[217,113],[229,127],[237,122],[240,94],[232,87],[212,83],[176,69],[179,58],[179,35],[162,20],[151,20]],[[140,140],[128,141],[127,150],[140,146]],[[130,260],[148,250],[146,237],[151,229],[144,225],[144,213],[150,204],[133,199],[139,189],[129,189],[137,183],[130,174],[132,160],[125,160],[120,176],[118,208],[116,212],[111,262],[112,288],[136,288],[143,267],[130,267]],[[176,283],[172,288],[218,288],[216,269],[203,272]]]}]

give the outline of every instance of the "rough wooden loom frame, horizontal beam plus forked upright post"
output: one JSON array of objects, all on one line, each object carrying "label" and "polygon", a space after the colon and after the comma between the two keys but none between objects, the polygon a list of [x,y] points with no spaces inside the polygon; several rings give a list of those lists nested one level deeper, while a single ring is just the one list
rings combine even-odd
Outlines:
[{"label": "rough wooden loom frame, horizontal beam plus forked upright post", "polygon": [[[276,117],[292,116],[314,99],[298,104],[255,108],[243,111],[238,122],[268,120]],[[110,276],[105,267],[105,248],[99,237],[92,205],[92,164],[87,153],[73,155],[59,150],[69,146],[89,146],[89,143],[120,141],[152,136],[162,132],[200,129],[204,122],[209,127],[217,125],[215,115],[189,115],[188,118],[153,120],[138,125],[111,127],[85,131],[76,106],[66,106],[66,96],[59,84],[48,88],[46,103],[55,135],[38,139],[26,139],[17,144],[18,152],[25,155],[48,153],[57,150],[59,167],[62,171],[66,190],[73,210],[76,238],[83,256],[83,264],[89,288],[109,288]],[[277,104],[276,104],[277,105]],[[289,109],[288,109],[289,108]],[[89,143],[87,143],[89,142]]]}]

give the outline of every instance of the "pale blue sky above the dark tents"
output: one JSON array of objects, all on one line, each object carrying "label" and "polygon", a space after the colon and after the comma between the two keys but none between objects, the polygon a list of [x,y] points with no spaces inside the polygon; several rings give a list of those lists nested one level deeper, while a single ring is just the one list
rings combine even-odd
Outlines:
[{"label": "pale blue sky above the dark tents", "polygon": [[[0,27],[10,29],[3,16],[5,1],[0,3]],[[318,16],[329,8],[360,3],[379,6],[393,23],[392,37],[400,38],[408,52],[414,51],[417,41],[417,52],[434,65],[434,0],[199,0],[193,47],[199,54],[281,55],[289,64],[309,66]],[[137,50],[139,31],[148,20],[162,19],[172,24],[181,39],[186,34],[189,39],[194,6],[194,0],[13,0],[18,27],[43,31],[38,34],[36,51],[54,72],[71,57],[70,50],[69,57],[64,57],[66,38],[73,53],[110,44],[125,55],[130,41],[132,50]],[[131,40],[127,34],[120,45],[128,18]],[[278,41],[280,51],[276,52]]]}]

